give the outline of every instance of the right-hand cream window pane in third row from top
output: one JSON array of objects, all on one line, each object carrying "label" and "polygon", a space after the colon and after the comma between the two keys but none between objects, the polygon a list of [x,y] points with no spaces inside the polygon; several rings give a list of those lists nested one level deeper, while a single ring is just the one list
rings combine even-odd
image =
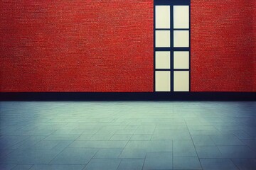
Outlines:
[{"label": "right-hand cream window pane in third row from top", "polygon": [[189,52],[174,52],[174,69],[189,69]]}]

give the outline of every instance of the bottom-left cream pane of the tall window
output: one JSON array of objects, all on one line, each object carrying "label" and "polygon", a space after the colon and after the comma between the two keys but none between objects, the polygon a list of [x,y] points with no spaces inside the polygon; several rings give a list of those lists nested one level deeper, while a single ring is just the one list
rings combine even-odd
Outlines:
[{"label": "bottom-left cream pane of the tall window", "polygon": [[171,91],[170,72],[156,71],[156,91]]}]

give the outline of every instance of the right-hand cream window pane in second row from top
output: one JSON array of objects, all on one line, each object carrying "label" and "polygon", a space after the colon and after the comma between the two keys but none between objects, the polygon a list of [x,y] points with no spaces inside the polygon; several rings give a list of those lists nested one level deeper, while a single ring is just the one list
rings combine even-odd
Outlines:
[{"label": "right-hand cream window pane in second row from top", "polygon": [[174,30],[174,47],[189,47],[188,30]]}]

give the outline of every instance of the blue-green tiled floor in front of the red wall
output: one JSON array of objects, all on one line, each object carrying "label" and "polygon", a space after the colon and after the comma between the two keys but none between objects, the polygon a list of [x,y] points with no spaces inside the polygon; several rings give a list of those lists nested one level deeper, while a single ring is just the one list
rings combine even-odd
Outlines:
[{"label": "blue-green tiled floor in front of the red wall", "polygon": [[1,102],[0,169],[256,169],[255,102]]}]

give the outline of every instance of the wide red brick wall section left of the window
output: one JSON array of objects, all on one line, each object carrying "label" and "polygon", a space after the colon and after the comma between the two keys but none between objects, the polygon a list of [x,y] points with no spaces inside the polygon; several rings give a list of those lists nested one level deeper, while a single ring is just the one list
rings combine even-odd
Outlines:
[{"label": "wide red brick wall section left of the window", "polygon": [[153,91],[153,1],[0,6],[0,91]]}]

